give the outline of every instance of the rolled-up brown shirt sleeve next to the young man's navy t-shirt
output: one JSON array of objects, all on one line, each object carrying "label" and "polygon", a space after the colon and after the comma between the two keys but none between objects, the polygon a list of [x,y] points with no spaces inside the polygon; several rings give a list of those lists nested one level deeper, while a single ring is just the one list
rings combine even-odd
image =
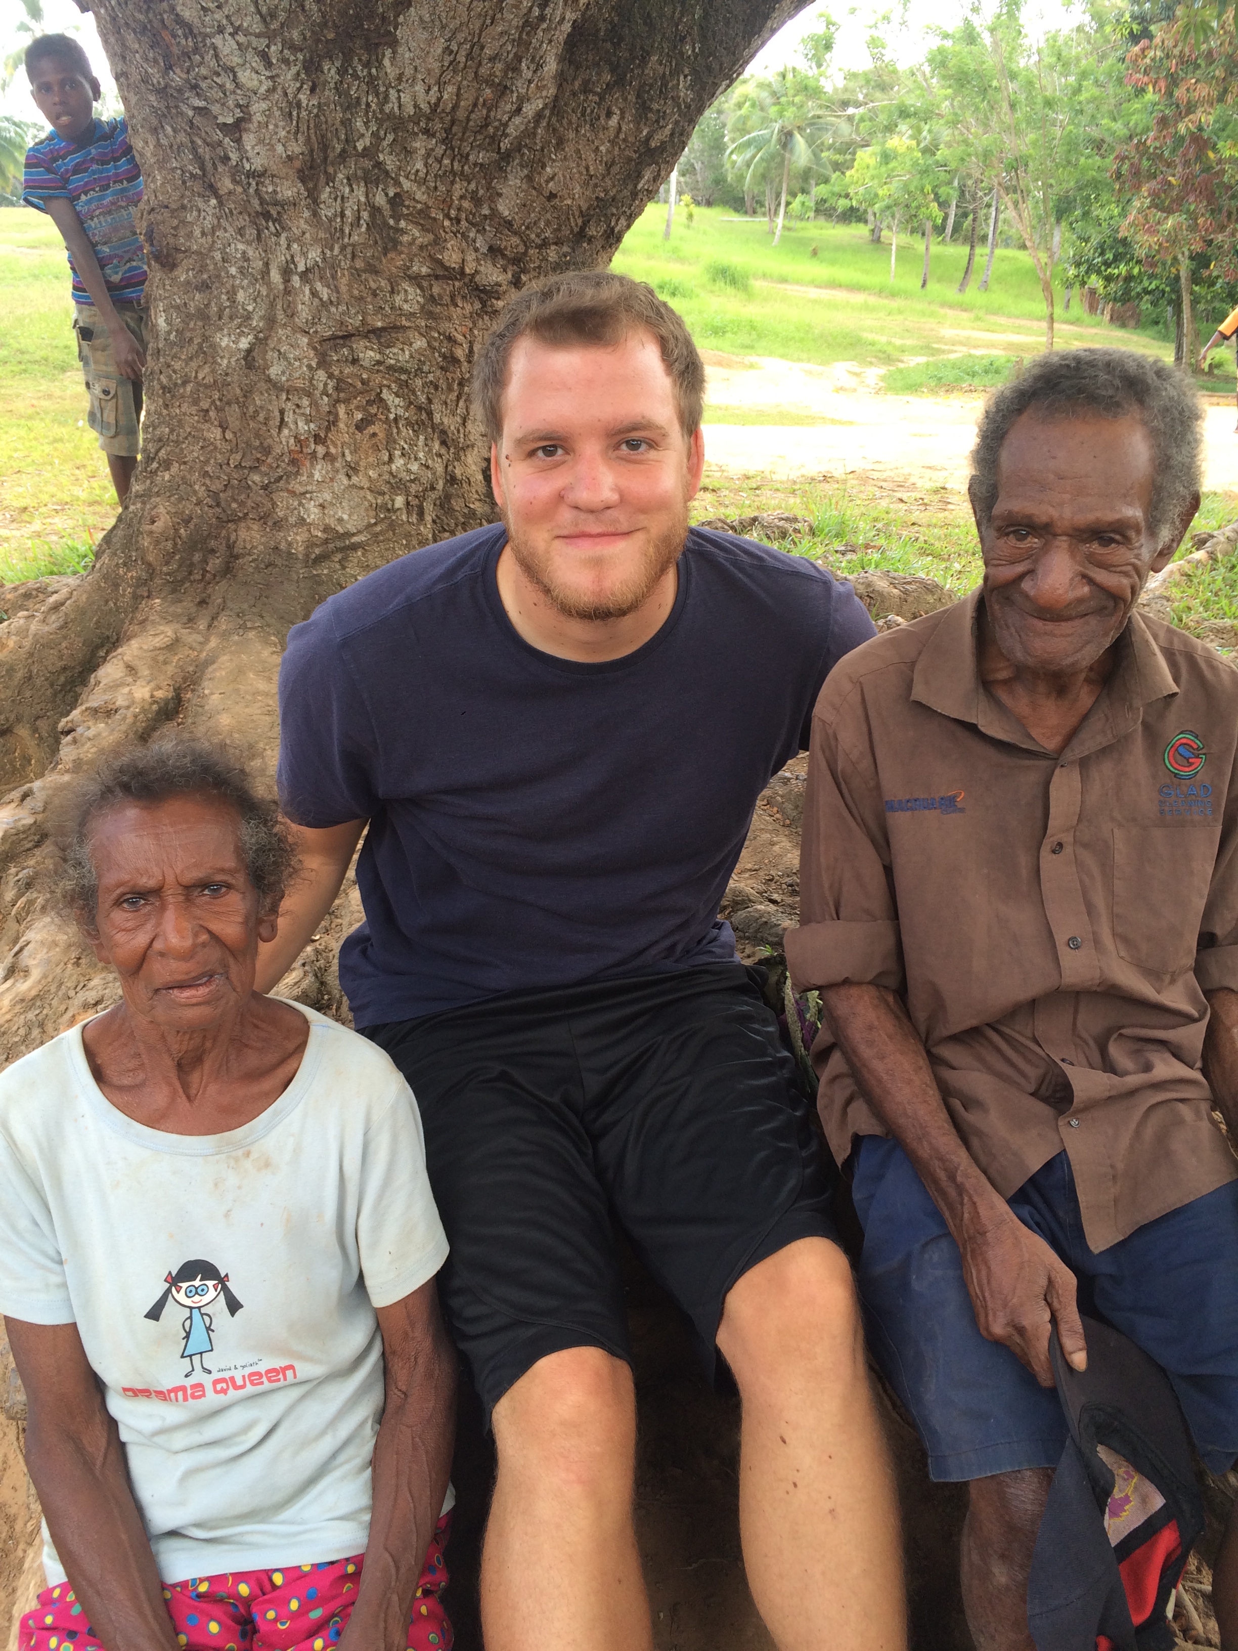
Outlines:
[{"label": "rolled-up brown shirt sleeve next to the young man's navy t-shirt", "polygon": [[[829,690],[827,690],[829,692]],[[791,981],[820,986],[885,986],[901,991],[903,949],[890,882],[890,840],[877,764],[867,741],[843,745],[840,721],[853,705],[812,718],[809,784],[799,859],[799,928],[787,930]],[[858,718],[865,725],[863,717]]]}]

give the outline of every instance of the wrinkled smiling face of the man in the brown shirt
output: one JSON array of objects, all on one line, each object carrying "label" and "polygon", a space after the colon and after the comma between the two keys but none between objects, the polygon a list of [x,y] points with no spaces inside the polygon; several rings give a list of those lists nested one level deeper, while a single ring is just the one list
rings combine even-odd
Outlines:
[{"label": "wrinkled smiling face of the man in the brown shirt", "polygon": [[1139,418],[1032,409],[1015,419],[992,517],[977,517],[985,609],[1014,665],[1086,670],[1119,636],[1144,580],[1169,561],[1187,527],[1154,540],[1152,482],[1152,442]]}]

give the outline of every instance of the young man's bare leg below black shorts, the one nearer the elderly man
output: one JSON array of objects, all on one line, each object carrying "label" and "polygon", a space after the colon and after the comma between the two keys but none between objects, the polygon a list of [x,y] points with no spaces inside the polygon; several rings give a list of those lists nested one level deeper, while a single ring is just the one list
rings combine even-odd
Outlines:
[{"label": "young man's bare leg below black shorts, the one nearer the elderly man", "polygon": [[898,1501],[842,1250],[801,1238],[759,1261],[718,1346],[743,1398],[748,1583],[779,1651],[901,1651]]}]

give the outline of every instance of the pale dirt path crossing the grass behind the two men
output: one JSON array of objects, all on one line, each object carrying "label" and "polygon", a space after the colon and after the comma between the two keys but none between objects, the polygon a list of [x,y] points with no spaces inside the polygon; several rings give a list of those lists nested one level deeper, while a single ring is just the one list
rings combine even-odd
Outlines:
[{"label": "pale dirt path crossing the grass behind the two men", "polygon": [[[705,454],[726,471],[774,477],[850,471],[933,482],[962,492],[980,396],[886,396],[880,368],[857,362],[812,367],[774,357],[705,352],[713,404],[817,414],[822,424],[705,424]],[[1205,487],[1238,490],[1235,406],[1207,409]]]}]

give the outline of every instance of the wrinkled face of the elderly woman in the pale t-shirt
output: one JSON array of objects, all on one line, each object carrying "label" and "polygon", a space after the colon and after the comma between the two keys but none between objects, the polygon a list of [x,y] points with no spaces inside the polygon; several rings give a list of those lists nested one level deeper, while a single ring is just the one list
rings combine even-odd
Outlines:
[{"label": "wrinkled face of the elderly woman in the pale t-shirt", "polygon": [[236,811],[218,797],[127,802],[89,837],[99,882],[91,944],[120,976],[129,1010],[168,1032],[208,1030],[249,997],[259,913]]}]

